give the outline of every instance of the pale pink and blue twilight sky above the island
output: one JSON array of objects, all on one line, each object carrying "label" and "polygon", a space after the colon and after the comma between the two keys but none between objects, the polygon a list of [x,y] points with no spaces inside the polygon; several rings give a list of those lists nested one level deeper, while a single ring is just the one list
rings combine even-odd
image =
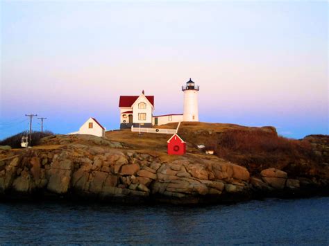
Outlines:
[{"label": "pale pink and blue twilight sky above the island", "polygon": [[[119,96],[155,114],[328,134],[327,1],[1,1],[0,139],[74,132],[90,116],[119,128]],[[40,120],[33,118],[33,130]]]}]

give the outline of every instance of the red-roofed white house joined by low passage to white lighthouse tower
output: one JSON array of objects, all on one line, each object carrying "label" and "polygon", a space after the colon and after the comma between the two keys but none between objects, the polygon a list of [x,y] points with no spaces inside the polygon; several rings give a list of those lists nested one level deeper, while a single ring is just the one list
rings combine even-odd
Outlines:
[{"label": "red-roofed white house joined by low passage to white lighthouse tower", "polygon": [[154,96],[120,96],[120,129],[134,127],[151,128],[153,125],[164,125],[171,122],[199,121],[198,92],[199,86],[189,79],[183,85],[184,113],[153,116]]}]

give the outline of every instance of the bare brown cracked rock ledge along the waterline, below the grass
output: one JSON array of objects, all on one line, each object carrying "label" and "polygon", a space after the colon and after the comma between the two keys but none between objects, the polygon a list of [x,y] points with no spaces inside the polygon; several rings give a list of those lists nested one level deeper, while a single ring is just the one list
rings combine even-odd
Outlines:
[{"label": "bare brown cracked rock ledge along the waterline, below the grass", "polygon": [[[69,137],[49,137],[60,147],[1,150],[0,194],[96,197],[119,202],[225,202],[262,191],[296,193],[305,187],[328,186],[321,177],[289,177],[276,168],[253,176],[244,166],[218,157],[126,150],[123,144],[94,137],[82,143]],[[72,138],[72,137],[71,137]],[[77,138],[77,137],[74,137]],[[326,172],[324,172],[326,173]]]}]

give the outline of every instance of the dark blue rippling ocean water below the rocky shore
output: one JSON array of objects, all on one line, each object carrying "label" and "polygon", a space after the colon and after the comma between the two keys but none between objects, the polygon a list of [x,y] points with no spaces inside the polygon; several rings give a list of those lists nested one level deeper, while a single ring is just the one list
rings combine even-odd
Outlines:
[{"label": "dark blue rippling ocean water below the rocky shore", "polygon": [[329,245],[329,197],[205,207],[0,203],[0,244]]}]

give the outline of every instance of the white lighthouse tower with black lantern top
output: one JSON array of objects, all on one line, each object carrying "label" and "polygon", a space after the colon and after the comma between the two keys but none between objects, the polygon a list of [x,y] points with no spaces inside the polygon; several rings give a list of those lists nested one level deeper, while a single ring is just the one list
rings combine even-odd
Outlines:
[{"label": "white lighthouse tower with black lantern top", "polygon": [[183,121],[199,121],[199,109],[198,109],[199,85],[195,85],[190,78],[189,81],[186,82],[186,85],[183,85],[182,91],[184,91]]}]

